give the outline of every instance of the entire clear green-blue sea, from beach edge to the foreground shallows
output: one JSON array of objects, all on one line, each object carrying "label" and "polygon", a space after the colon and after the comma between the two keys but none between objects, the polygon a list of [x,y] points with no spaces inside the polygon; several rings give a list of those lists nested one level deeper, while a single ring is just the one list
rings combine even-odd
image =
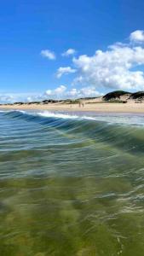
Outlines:
[{"label": "entire clear green-blue sea, from beach edge to the foreground shallows", "polygon": [[144,255],[144,115],[0,112],[0,255]]}]

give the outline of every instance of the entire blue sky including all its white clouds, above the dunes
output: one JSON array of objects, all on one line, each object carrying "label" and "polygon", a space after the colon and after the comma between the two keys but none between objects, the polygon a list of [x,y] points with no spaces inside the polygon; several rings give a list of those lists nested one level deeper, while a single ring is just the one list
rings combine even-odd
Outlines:
[{"label": "entire blue sky including all its white clouds, above the dunes", "polygon": [[0,102],[144,90],[142,0],[0,3]]}]

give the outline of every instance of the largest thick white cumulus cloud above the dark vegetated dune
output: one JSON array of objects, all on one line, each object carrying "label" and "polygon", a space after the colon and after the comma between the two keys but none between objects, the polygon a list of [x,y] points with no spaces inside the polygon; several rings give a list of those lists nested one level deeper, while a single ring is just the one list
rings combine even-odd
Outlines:
[{"label": "largest thick white cumulus cloud above the dark vegetated dune", "polygon": [[106,51],[95,55],[73,58],[78,71],[74,84],[92,84],[98,90],[143,90],[144,73],[138,68],[144,64],[144,49],[113,44]]}]

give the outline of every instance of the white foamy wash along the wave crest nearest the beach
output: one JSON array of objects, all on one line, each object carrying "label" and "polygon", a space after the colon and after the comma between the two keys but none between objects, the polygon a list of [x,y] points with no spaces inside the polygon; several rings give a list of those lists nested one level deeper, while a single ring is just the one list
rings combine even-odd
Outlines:
[{"label": "white foamy wash along the wave crest nearest the beach", "polygon": [[109,124],[121,125],[144,125],[144,114],[142,113],[66,113],[66,112],[33,112],[24,110],[1,110],[0,113],[6,113],[11,117],[22,117],[21,114],[32,117],[55,118],[55,119],[77,119],[94,120],[107,122]]}]

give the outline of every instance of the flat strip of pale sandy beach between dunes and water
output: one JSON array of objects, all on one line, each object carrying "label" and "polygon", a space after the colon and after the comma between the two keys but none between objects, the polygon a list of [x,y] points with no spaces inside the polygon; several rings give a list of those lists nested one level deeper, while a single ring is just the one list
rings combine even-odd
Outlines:
[{"label": "flat strip of pale sandy beach between dunes and water", "polygon": [[95,112],[95,113],[144,113],[144,103],[92,103],[84,104],[79,108],[78,104],[25,104],[25,105],[1,105],[1,110],[45,110],[45,111],[68,111],[68,112]]}]

